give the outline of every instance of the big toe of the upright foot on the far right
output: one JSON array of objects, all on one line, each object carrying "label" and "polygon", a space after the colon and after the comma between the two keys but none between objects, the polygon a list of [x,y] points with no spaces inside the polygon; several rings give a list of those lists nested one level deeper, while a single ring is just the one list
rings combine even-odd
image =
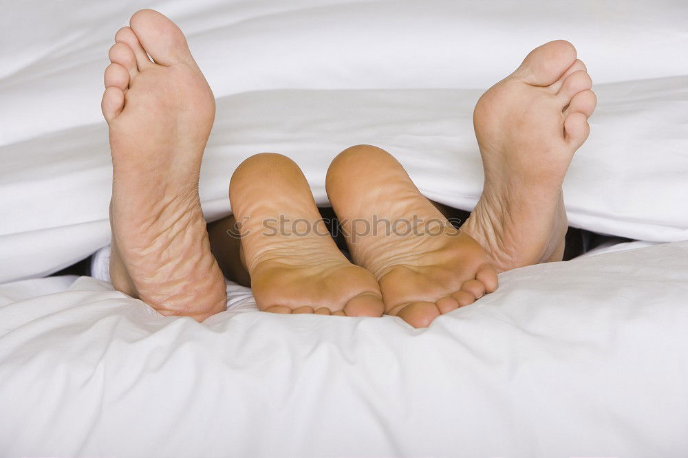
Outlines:
[{"label": "big toe of the upright foot on the far right", "polygon": [[533,86],[549,86],[576,61],[576,48],[564,40],[550,41],[531,51],[514,75]]}]

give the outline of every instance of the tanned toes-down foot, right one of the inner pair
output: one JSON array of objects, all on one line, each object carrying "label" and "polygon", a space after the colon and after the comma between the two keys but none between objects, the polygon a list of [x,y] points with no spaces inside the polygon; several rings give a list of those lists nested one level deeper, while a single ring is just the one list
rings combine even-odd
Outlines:
[{"label": "tanned toes-down foot, right one of the inner pair", "polygon": [[485,251],[453,228],[385,151],[343,151],[327,171],[327,195],[354,261],[380,283],[385,313],[427,327],[497,288]]}]

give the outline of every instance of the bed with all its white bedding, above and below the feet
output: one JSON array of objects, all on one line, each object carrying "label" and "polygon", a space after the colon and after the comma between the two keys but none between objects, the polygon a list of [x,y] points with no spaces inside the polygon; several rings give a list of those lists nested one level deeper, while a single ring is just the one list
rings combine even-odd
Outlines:
[{"label": "bed with all its white bedding, above and below the feet", "polygon": [[[570,224],[633,239],[500,275],[475,305],[398,318],[276,316],[228,283],[204,323],[92,276],[109,243],[100,118],[111,36],[178,21],[217,98],[200,193],[289,155],[316,201],[352,144],[470,210],[471,111],[528,50],[568,39],[599,107],[564,185]],[[688,10],[682,1],[160,1],[12,6],[0,19],[0,455],[685,457]]]}]

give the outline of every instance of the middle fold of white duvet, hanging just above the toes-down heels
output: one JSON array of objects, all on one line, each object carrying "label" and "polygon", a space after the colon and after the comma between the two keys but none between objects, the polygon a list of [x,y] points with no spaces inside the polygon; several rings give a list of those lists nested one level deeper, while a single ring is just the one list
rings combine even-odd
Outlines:
[{"label": "middle fold of white duvet, hanging just above the toes-down heels", "polygon": [[[572,226],[632,239],[688,239],[688,76],[596,87],[592,135],[564,183]],[[217,100],[202,166],[208,219],[227,215],[231,174],[275,151],[327,203],[325,172],[347,146],[381,146],[430,197],[471,210],[482,164],[471,122],[479,89],[285,89]],[[43,276],[109,243],[105,124],[0,146],[0,283]]]}]

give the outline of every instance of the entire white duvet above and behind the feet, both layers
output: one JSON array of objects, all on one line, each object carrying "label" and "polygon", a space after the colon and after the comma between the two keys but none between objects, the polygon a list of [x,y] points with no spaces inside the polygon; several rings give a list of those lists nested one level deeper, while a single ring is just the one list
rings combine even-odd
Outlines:
[{"label": "entire white duvet above and behind the feet, both layers", "polygon": [[[102,74],[114,32],[145,6],[28,0],[0,15],[0,283],[56,272],[109,243]],[[396,155],[429,197],[470,210],[482,184],[475,100],[533,47],[564,38],[588,63],[599,96],[591,138],[566,179],[572,225],[688,239],[682,0],[155,8],[180,23],[218,98],[201,183],[208,217],[229,212],[228,179],[248,155],[294,157],[324,203],[327,164],[363,142]]]}]

